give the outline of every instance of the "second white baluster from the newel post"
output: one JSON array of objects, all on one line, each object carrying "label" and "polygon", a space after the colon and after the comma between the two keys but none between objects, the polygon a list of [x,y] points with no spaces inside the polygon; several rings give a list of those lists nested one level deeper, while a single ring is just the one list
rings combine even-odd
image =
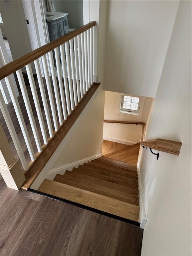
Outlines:
[{"label": "second white baluster from the newel post", "polygon": [[35,161],[35,154],[34,154],[34,151],[33,151],[33,147],[32,147],[31,141],[30,141],[29,134],[27,132],[27,127],[25,125],[23,115],[22,115],[22,112],[21,112],[21,108],[19,106],[19,102],[18,102],[17,96],[15,94],[15,90],[13,88],[13,84],[12,84],[10,76],[5,77],[5,82],[7,84],[8,90],[9,90],[9,94],[10,94],[10,97],[11,97],[11,100],[12,100],[12,103],[13,103],[13,107],[15,109],[16,116],[17,116],[18,121],[19,121],[19,125],[21,127],[21,131],[22,131],[25,143],[27,145],[27,149],[29,151],[29,155],[31,157],[31,160]]}]

